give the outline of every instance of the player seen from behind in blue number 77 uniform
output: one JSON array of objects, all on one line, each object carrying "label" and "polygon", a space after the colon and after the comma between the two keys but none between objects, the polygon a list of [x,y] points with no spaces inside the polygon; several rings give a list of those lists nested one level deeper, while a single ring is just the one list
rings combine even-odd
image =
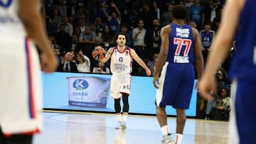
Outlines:
[{"label": "player seen from behind in blue number 77 uniform", "polygon": [[193,64],[196,65],[200,79],[203,73],[203,55],[198,31],[184,24],[188,16],[186,7],[174,6],[171,13],[173,23],[161,29],[161,50],[153,82],[156,87],[156,116],[163,134],[162,143],[174,143],[165,111],[166,106],[170,105],[176,109],[176,143],[180,144],[186,123],[185,110],[189,108],[195,80]]}]

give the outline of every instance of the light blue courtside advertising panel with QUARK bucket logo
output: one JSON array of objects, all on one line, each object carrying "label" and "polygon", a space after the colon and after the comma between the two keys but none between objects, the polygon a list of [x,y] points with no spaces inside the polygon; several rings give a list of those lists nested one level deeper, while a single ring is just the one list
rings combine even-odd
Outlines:
[{"label": "light blue courtside advertising panel with QUARK bucket logo", "polygon": [[[42,72],[43,109],[114,112],[111,77],[111,74]],[[156,114],[156,89],[152,81],[153,77],[132,76],[129,113]],[[176,116],[176,110],[171,106],[166,106],[166,113]],[[186,115],[196,116],[196,89],[193,89]]]}]

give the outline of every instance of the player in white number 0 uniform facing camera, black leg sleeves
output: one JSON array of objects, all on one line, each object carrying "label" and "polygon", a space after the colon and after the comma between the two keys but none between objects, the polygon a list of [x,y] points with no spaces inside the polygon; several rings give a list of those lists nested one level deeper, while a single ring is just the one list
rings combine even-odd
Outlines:
[{"label": "player in white number 0 uniform facing camera, black leg sleeves", "polygon": [[[125,33],[117,33],[115,40],[117,46],[107,50],[107,54],[100,62],[107,62],[111,57],[110,70],[112,72],[111,78],[111,96],[114,98],[114,111],[117,114],[116,129],[125,129],[127,123],[127,116],[129,112],[128,96],[131,88],[131,73],[132,73],[132,59],[136,60],[145,70],[149,76],[151,71],[137,55],[135,50],[125,45],[127,43],[127,35]],[[121,115],[120,100],[122,97],[123,109]]]}]

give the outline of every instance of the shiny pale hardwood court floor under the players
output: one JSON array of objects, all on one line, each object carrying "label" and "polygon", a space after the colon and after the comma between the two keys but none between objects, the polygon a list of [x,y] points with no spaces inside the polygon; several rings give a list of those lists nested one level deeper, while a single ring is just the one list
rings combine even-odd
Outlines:
[{"label": "shiny pale hardwood court floor under the players", "polygon": [[[43,133],[33,144],[160,144],[156,116],[130,115],[125,131],[115,130],[117,118],[107,113],[43,112]],[[175,136],[176,119],[168,118]],[[173,138],[174,138],[173,136]],[[228,122],[188,118],[183,144],[228,143]]]}]

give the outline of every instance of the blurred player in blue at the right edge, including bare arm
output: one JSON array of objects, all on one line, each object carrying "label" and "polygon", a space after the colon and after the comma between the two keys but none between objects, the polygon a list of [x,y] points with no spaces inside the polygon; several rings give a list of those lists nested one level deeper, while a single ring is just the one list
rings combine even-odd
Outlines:
[{"label": "blurred player in blue at the right edge, including bare arm", "polygon": [[256,143],[255,7],[255,0],[226,1],[220,28],[211,45],[206,72],[198,84],[201,96],[213,100],[210,93],[216,92],[215,70],[228,56],[230,45],[239,28],[236,52],[229,71],[229,77],[233,79],[231,98],[235,106],[230,113],[230,144]]}]

